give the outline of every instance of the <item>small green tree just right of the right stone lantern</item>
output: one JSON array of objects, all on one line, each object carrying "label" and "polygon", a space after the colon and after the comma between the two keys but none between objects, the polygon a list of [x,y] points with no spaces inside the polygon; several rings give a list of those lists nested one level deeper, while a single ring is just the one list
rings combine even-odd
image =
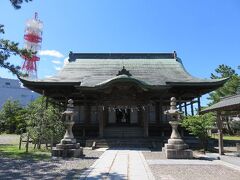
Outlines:
[{"label": "small green tree just right of the right stone lantern", "polygon": [[196,116],[186,116],[181,126],[185,127],[190,134],[199,138],[204,152],[207,150],[208,130],[213,127],[215,116],[212,113]]}]

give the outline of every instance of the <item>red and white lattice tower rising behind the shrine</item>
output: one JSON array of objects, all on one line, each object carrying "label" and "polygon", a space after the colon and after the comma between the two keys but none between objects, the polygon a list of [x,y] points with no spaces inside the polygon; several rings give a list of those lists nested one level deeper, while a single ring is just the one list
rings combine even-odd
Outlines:
[{"label": "red and white lattice tower rising behind the shrine", "polygon": [[34,18],[27,20],[24,33],[24,48],[33,52],[31,57],[23,56],[24,63],[22,71],[28,74],[29,78],[37,78],[37,61],[40,58],[37,52],[41,49],[43,23],[38,19],[38,14],[35,13]]}]

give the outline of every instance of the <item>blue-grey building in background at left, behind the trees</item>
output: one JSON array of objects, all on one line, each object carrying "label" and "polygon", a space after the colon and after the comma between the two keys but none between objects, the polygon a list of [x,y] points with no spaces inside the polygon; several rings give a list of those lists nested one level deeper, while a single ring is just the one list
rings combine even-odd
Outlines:
[{"label": "blue-grey building in background at left, behind the trees", "polygon": [[0,78],[0,109],[8,99],[18,100],[22,106],[26,106],[38,96],[39,94],[22,87],[19,80]]}]

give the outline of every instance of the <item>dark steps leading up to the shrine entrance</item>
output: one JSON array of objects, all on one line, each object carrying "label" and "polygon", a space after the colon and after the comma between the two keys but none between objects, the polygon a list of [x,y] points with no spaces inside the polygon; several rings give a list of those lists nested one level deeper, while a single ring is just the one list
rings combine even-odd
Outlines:
[{"label": "dark steps leading up to the shrine entrance", "polygon": [[141,127],[106,127],[104,137],[108,138],[132,138],[143,137],[143,128]]}]

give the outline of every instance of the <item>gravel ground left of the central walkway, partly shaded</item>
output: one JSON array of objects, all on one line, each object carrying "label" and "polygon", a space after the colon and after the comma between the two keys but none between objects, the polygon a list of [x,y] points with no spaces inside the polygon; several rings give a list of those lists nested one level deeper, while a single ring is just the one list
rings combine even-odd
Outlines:
[{"label": "gravel ground left of the central walkway, partly shaded", "polygon": [[103,151],[84,149],[82,158],[49,161],[17,160],[0,157],[0,179],[79,179]]}]

